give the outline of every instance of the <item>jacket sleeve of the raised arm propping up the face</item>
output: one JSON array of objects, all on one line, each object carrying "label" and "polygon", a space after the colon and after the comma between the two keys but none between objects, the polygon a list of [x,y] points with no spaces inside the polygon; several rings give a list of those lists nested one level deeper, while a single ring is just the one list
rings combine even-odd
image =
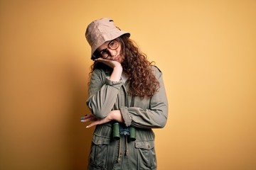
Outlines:
[{"label": "jacket sleeve of the raised arm propping up the face", "polygon": [[105,118],[112,110],[117,98],[122,81],[110,81],[106,74],[95,69],[89,86],[89,97],[87,98],[87,106],[96,118]]}]

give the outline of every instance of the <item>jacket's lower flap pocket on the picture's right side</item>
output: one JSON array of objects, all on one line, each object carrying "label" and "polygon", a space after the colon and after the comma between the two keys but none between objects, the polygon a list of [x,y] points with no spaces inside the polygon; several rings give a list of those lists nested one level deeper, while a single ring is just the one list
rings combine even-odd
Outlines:
[{"label": "jacket's lower flap pocket on the picture's right side", "polygon": [[154,141],[135,141],[139,169],[156,169]]}]

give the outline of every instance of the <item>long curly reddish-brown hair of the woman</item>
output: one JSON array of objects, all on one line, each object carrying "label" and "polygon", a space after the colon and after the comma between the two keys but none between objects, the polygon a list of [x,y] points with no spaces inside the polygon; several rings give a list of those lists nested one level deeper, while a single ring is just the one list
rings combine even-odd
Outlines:
[{"label": "long curly reddish-brown hair of the woman", "polygon": [[[146,55],[139,50],[137,44],[122,35],[117,38],[122,45],[121,53],[124,55],[122,62],[123,72],[127,74],[129,81],[128,93],[132,96],[151,97],[159,90],[159,81],[152,72],[151,66],[154,62],[149,62]],[[111,69],[101,62],[94,62],[91,66],[92,74],[95,69]]]}]

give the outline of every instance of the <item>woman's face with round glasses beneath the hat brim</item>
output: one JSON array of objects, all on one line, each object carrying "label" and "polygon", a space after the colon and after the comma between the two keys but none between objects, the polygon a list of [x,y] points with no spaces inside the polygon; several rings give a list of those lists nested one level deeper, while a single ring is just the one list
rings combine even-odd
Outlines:
[{"label": "woman's face with round glasses beneath the hat brim", "polygon": [[124,56],[121,54],[121,49],[121,43],[117,39],[114,39],[100,45],[100,47],[97,48],[97,52],[100,54],[100,57],[104,59],[115,60],[122,63]]}]

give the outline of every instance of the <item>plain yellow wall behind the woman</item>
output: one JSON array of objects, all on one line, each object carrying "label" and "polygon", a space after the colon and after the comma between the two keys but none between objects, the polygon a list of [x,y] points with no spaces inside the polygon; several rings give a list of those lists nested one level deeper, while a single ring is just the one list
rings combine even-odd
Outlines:
[{"label": "plain yellow wall behind the woman", "polygon": [[0,1],[0,169],[85,169],[90,21],[164,72],[159,170],[256,169],[256,1]]}]

